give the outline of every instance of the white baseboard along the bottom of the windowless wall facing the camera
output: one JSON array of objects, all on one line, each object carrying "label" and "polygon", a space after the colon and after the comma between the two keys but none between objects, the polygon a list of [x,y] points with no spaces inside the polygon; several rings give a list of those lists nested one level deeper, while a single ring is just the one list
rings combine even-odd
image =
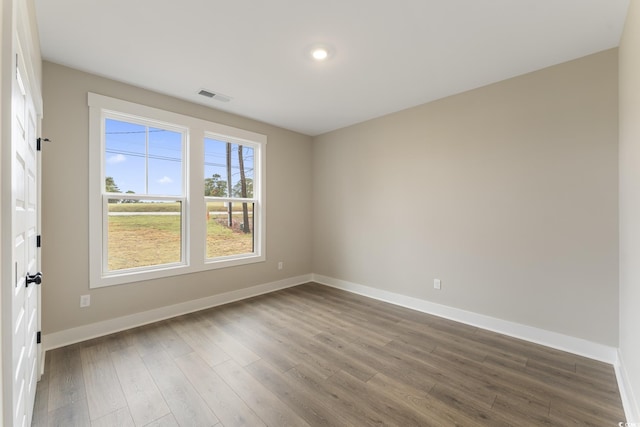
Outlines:
[{"label": "white baseboard along the bottom of the windowless wall facing the camera", "polygon": [[488,329],[490,331],[498,332],[514,338],[519,338],[536,344],[552,347],[558,350],[567,351],[569,353],[610,363],[612,365],[614,365],[618,360],[616,348],[594,343],[581,338],[563,335],[544,329],[534,328],[507,320],[497,319],[495,317],[485,316],[482,314],[477,314],[442,304],[436,304],[423,299],[409,297],[394,292],[383,291],[381,289],[359,285],[357,283],[334,279],[332,277],[313,274],[312,278],[314,282],[320,283],[322,285],[342,289],[369,298],[399,305],[401,307],[421,311],[423,313],[433,314],[435,316],[455,320],[456,322],[465,323],[467,325],[476,326],[478,328]]}]

